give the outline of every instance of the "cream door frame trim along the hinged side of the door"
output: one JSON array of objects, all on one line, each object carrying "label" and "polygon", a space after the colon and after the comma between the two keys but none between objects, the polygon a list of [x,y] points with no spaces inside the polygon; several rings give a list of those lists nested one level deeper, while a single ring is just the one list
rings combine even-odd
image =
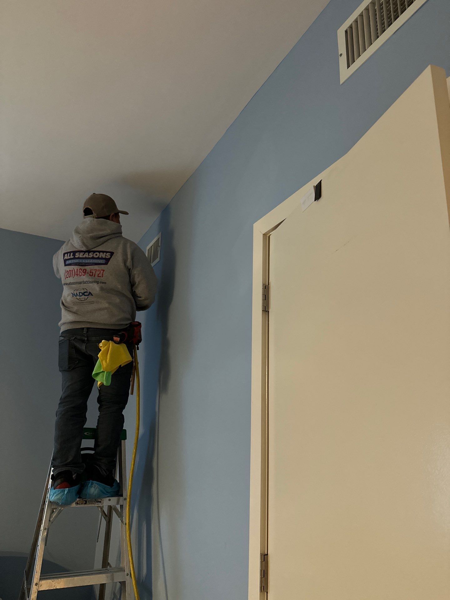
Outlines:
[{"label": "cream door frame trim along the hinged side of the door", "polygon": [[[439,112],[448,111],[450,77],[446,79],[442,68],[430,66],[433,86],[439,88]],[[445,90],[445,91],[444,91]],[[446,98],[444,101],[443,98]],[[449,127],[450,132],[450,127]],[[450,163],[450,135],[441,140],[443,154]],[[248,600],[265,600],[266,593],[259,592],[260,554],[267,554],[268,543],[268,332],[269,311],[262,310],[262,286],[270,283],[269,244],[270,235],[300,204],[302,197],[321,179],[322,198],[326,198],[326,173],[334,168],[337,160],[322,173],[311,179],[292,196],[268,212],[253,226],[253,300],[251,329],[251,442],[250,442],[250,522],[248,556]],[[448,187],[450,215],[450,173],[444,173]],[[270,556],[269,556],[270,560]]]}]

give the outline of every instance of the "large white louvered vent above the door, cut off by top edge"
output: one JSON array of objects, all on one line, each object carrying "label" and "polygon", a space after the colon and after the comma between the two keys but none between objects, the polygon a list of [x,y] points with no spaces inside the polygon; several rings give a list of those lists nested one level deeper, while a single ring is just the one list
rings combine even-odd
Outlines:
[{"label": "large white louvered vent above the door, cut off by top edge", "polygon": [[341,83],[400,28],[427,0],[363,2],[338,31]]}]

